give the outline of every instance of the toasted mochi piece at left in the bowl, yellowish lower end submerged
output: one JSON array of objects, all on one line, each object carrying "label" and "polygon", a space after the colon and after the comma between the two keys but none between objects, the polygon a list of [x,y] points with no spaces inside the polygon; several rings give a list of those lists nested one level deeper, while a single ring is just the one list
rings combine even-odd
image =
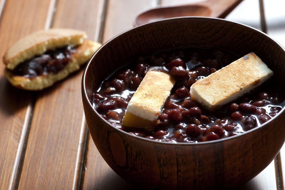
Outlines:
[{"label": "toasted mochi piece at left in the bowl, yellowish lower end submerged", "polygon": [[150,70],[129,101],[123,125],[148,127],[155,123],[175,80],[167,73]]}]

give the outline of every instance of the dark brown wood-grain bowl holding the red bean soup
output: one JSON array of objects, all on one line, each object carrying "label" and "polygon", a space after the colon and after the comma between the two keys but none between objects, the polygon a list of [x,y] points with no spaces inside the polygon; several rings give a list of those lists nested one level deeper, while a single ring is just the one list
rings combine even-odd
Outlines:
[{"label": "dark brown wood-grain bowl holding the red bean soup", "polygon": [[[285,140],[284,109],[244,134],[210,142],[168,144],[128,134],[104,120],[92,97],[102,80],[138,55],[177,47],[219,47],[238,55],[256,53],[285,87],[285,50],[266,34],[216,18],[181,17],[130,29],[105,43],[82,80],[86,121],[107,164],[130,183],[148,189],[228,188],[254,178]],[[214,186],[214,187],[213,187]]]}]

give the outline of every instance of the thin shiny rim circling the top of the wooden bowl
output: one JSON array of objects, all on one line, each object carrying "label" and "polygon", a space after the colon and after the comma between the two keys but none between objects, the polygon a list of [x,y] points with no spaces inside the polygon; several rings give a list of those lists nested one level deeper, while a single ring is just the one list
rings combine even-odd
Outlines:
[{"label": "thin shiny rim circling the top of the wooden bowl", "polygon": [[[285,53],[285,48],[280,44],[278,43],[276,40],[274,40],[272,37],[270,37],[269,35],[265,34],[264,32],[258,30],[258,29],[255,29],[251,26],[248,26],[248,25],[245,25],[245,24],[242,24],[242,23],[238,23],[238,22],[235,22],[235,21],[229,21],[229,20],[226,20],[226,19],[222,19],[222,18],[213,18],[213,17],[202,17],[202,16],[185,16],[185,17],[175,17],[175,18],[167,18],[167,19],[163,19],[163,20],[159,20],[159,21],[153,21],[153,22],[150,22],[150,23],[145,23],[143,25],[140,25],[140,26],[135,26],[131,29],[128,29],[124,32],[121,32],[119,34],[117,34],[116,36],[112,37],[110,40],[108,40],[107,42],[105,42],[93,55],[92,57],[89,59],[85,69],[84,69],[84,72],[83,72],[83,76],[82,76],[82,83],[81,83],[81,91],[83,92],[82,94],[82,98],[84,98],[88,103],[88,106],[91,108],[92,112],[95,112],[95,114],[100,118],[100,114],[94,109],[94,107],[92,106],[91,102],[89,101],[88,99],[88,96],[87,96],[87,92],[86,92],[86,86],[85,86],[85,78],[86,78],[86,73],[87,73],[87,70],[92,62],[92,60],[94,59],[94,57],[96,56],[96,54],[98,54],[98,52],[104,48],[105,45],[107,45],[108,43],[110,43],[112,40],[114,40],[115,38],[127,33],[127,32],[130,32],[134,29],[137,29],[137,28],[140,28],[140,27],[144,27],[145,25],[153,25],[153,24],[156,24],[156,23],[163,23],[163,22],[169,22],[171,20],[177,20],[177,19],[214,19],[214,20],[218,20],[218,21],[221,21],[221,22],[230,22],[230,23],[234,23],[234,24],[238,24],[238,25],[241,25],[241,26],[245,26],[245,27],[248,27],[250,29],[253,29],[257,32],[260,32],[262,33],[263,35],[265,35],[266,37],[270,38],[271,40],[273,40],[275,43],[277,43],[277,45],[280,46],[280,48],[284,51]],[[176,142],[176,143],[169,143],[169,142],[162,142],[162,141],[155,141],[155,140],[152,140],[152,139],[147,139],[145,137],[140,137],[140,136],[134,136],[132,134],[129,134],[128,132],[122,130],[122,129],[119,129],[119,128],[116,128],[114,125],[112,125],[111,123],[109,123],[107,120],[103,119],[101,117],[101,119],[103,120],[103,122],[105,122],[107,125],[109,125],[110,127],[114,128],[114,130],[118,131],[119,133],[123,133],[125,135],[128,135],[130,138],[135,138],[135,139],[140,139],[140,140],[143,140],[143,141],[147,141],[147,142],[150,142],[150,143],[161,143],[161,144],[167,144],[168,146],[175,146],[175,145],[183,145],[183,146],[198,146],[198,145],[207,145],[207,144],[214,144],[214,143],[219,143],[219,142],[225,142],[225,141],[229,141],[231,139],[234,139],[234,138],[238,138],[240,136],[245,136],[245,135],[248,135],[250,133],[252,133],[253,131],[256,131],[256,130],[259,130],[260,128],[262,128],[263,126],[267,125],[268,123],[272,122],[273,120],[276,120],[277,117],[280,117],[280,115],[284,112],[285,110],[285,107],[281,109],[281,111],[276,114],[271,120],[268,120],[266,121],[265,123],[261,124],[260,126],[257,126],[256,128],[253,128],[249,131],[246,131],[242,134],[239,134],[239,135],[234,135],[234,136],[230,136],[230,137],[226,137],[226,138],[222,138],[222,139],[218,139],[218,140],[213,140],[213,141],[205,141],[205,142]],[[89,127],[89,126],[88,126]]]}]

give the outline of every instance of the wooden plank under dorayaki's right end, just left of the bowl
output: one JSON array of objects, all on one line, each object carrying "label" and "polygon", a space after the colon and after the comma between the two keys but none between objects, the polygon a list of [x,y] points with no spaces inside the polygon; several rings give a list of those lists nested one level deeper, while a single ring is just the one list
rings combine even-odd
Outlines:
[{"label": "wooden plank under dorayaki's right end, just left of the bowl", "polygon": [[[98,1],[58,0],[52,27],[85,30],[94,39],[98,11]],[[83,68],[39,92],[19,189],[76,189],[74,174],[80,169],[77,152],[82,143],[82,73]]]}]

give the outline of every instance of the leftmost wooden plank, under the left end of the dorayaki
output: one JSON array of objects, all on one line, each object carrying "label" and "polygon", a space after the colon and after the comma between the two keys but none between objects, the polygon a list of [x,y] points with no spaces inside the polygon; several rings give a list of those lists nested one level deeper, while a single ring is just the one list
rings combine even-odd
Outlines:
[{"label": "leftmost wooden plank, under the left end of the dorayaki", "polygon": [[[0,23],[1,58],[20,37],[44,29],[50,4],[41,0],[7,0],[5,6],[4,3],[3,0],[0,2],[0,10],[4,7]],[[24,153],[35,94],[12,87],[3,76],[2,59],[0,62],[0,189],[12,189],[16,185],[18,166]]]}]

